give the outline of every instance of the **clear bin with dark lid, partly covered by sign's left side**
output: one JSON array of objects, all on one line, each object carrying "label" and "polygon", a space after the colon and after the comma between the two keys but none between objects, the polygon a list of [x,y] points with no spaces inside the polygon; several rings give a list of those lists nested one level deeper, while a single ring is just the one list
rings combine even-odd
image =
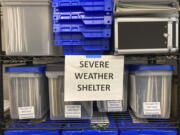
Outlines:
[{"label": "clear bin with dark lid, partly covered by sign's left side", "polygon": [[[91,119],[92,102],[64,102],[64,69],[61,65],[47,67],[49,78],[50,118],[52,120]],[[58,68],[59,67],[59,68]]]}]

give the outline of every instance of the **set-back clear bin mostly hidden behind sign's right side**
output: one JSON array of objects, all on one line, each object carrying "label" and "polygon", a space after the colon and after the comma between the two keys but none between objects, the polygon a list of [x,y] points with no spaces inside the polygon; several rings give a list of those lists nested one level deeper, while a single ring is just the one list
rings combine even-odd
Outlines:
[{"label": "set-back clear bin mostly hidden behind sign's right side", "polygon": [[124,72],[123,100],[97,101],[99,112],[125,112],[127,111],[128,71]]}]

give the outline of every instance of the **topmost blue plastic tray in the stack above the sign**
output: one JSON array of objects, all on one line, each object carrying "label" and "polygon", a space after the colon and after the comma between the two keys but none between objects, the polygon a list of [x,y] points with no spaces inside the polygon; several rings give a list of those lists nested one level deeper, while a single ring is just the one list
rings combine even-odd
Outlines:
[{"label": "topmost blue plastic tray in the stack above the sign", "polygon": [[112,0],[53,0],[52,7],[82,7],[84,11],[112,11]]}]

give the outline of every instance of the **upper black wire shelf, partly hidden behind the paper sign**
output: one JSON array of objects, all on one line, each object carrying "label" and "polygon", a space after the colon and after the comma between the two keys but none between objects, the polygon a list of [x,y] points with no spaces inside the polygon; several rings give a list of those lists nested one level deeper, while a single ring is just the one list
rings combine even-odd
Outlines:
[{"label": "upper black wire shelf, partly hidden behind the paper sign", "polygon": [[[173,54],[136,54],[136,55],[125,55],[127,60],[137,61],[138,60],[180,60],[178,53]],[[0,62],[3,64],[18,64],[33,61],[40,62],[58,62],[64,60],[65,56],[7,56],[0,55]]]}]

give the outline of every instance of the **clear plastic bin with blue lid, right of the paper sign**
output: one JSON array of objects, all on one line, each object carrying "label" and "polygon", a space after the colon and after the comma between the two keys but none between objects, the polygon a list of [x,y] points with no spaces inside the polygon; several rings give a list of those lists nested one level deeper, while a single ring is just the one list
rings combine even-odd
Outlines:
[{"label": "clear plastic bin with blue lid, right of the paper sign", "polygon": [[173,70],[171,65],[131,67],[130,106],[137,117],[170,117]]}]

